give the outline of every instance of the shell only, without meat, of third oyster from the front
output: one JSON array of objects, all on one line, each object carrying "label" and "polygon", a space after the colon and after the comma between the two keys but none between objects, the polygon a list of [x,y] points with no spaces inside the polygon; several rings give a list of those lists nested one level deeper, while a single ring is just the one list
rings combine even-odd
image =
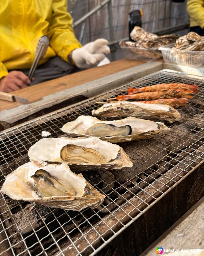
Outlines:
[{"label": "shell only, without meat, of third oyster from the front", "polygon": [[135,117],[127,117],[121,120],[114,120],[114,121],[101,121],[96,117],[83,116],[83,115],[79,116],[76,120],[65,124],[61,128],[61,130],[68,134],[90,137],[89,135],[87,135],[87,130],[96,124],[111,124],[111,125],[115,125],[116,127],[123,127],[128,125],[131,127],[132,131],[130,135],[125,135],[125,136],[112,135],[109,137],[97,136],[101,140],[109,141],[113,143],[148,139],[156,136],[157,134],[170,130],[170,128],[168,128],[163,123],[156,123],[150,120],[144,120],[144,119],[139,119]]}]

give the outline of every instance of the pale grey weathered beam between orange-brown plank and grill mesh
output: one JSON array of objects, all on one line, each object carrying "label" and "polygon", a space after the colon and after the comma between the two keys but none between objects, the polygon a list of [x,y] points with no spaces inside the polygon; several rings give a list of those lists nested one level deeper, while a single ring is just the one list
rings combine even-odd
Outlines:
[{"label": "pale grey weathered beam between orange-brown plank and grill mesh", "polygon": [[[162,68],[163,63],[161,62],[143,63],[142,65],[132,67],[130,69],[125,69],[123,71],[102,77],[94,81],[90,81],[88,83],[81,84],[79,86],[72,86],[71,88],[67,88],[67,85],[69,83],[67,81],[64,90],[57,91],[53,94],[45,95],[43,98],[39,99],[36,102],[18,105],[15,108],[0,111],[0,121],[12,124],[42,109],[49,108],[67,99],[71,99],[79,95],[85,96],[87,98],[93,97],[95,95],[103,93],[104,91],[111,90],[125,83],[134,81],[142,76],[159,71]],[[74,74],[74,76],[76,75],[77,74]],[[64,78],[62,77],[61,79]],[[54,83],[54,80],[52,80],[50,83]],[[33,90],[34,87],[35,86],[29,89]],[[23,90],[27,89],[22,89],[22,91]],[[38,95],[38,93],[36,93],[36,95]]]}]

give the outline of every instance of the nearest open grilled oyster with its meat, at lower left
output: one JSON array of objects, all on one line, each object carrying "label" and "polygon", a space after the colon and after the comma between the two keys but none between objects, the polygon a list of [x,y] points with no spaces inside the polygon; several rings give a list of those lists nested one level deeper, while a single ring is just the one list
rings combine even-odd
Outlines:
[{"label": "nearest open grilled oyster with its meat, at lower left", "polygon": [[15,200],[73,211],[96,208],[105,197],[64,163],[44,162],[41,170],[34,162],[25,163],[6,176],[1,191]]}]

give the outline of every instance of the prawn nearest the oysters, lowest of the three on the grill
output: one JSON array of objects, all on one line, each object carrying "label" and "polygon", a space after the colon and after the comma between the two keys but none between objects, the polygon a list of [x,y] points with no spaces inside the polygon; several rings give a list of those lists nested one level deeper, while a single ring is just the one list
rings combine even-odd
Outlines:
[{"label": "prawn nearest the oysters, lowest of the three on the grill", "polygon": [[163,105],[169,105],[172,106],[173,108],[178,108],[179,106],[186,106],[188,99],[158,99],[158,100],[149,100],[149,101],[138,101],[142,103],[147,103],[147,104],[163,104]]}]

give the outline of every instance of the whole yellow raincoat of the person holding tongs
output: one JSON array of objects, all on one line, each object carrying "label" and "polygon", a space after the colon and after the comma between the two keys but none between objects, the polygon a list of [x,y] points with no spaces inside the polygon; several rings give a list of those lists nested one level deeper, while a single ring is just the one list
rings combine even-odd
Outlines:
[{"label": "whole yellow raincoat of the person holding tongs", "polygon": [[67,0],[0,0],[0,78],[7,70],[31,67],[38,40],[48,35],[50,46],[40,64],[81,47],[67,13]]}]

